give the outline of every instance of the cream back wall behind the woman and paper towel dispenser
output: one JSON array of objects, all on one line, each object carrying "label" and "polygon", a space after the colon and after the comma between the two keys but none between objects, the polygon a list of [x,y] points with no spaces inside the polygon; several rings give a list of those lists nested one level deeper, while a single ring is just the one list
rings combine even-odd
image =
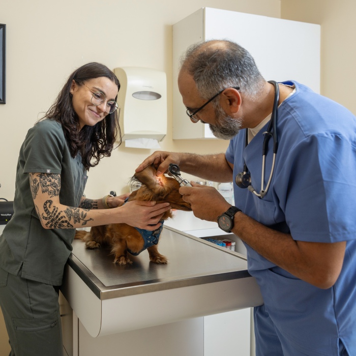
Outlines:
[{"label": "cream back wall behind the woman and paper towel dispenser", "polygon": [[[0,197],[13,199],[20,145],[40,112],[46,111],[77,67],[97,61],[109,68],[149,67],[165,71],[168,131],[162,150],[224,152],[227,141],[172,140],[172,27],[201,7],[280,17],[279,0],[0,0],[7,25],[7,103],[0,105]],[[188,119],[188,118],[187,118]],[[128,191],[135,168],[152,150],[127,149],[89,172],[86,196]]]}]

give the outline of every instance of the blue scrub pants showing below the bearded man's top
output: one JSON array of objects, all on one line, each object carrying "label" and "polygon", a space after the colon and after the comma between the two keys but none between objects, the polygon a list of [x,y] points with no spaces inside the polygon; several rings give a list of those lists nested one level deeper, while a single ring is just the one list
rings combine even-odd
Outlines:
[{"label": "blue scrub pants showing below the bearded man's top", "polygon": [[[319,352],[301,351],[296,348],[278,329],[275,328],[264,305],[254,308],[256,356],[320,356]],[[350,356],[342,342],[339,342],[339,352],[335,355]]]}]

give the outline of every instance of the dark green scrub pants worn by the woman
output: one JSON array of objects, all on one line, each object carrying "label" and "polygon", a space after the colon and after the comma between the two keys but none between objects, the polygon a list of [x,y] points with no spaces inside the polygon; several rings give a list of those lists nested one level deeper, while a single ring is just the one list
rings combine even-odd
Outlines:
[{"label": "dark green scrub pants worn by the woman", "polygon": [[0,269],[0,307],[10,356],[63,356],[58,288]]}]

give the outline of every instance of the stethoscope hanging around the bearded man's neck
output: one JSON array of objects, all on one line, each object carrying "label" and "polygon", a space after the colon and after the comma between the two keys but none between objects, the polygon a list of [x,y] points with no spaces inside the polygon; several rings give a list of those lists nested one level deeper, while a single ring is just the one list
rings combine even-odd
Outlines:
[{"label": "stethoscope hanging around the bearded man's neck", "polygon": [[[279,100],[279,87],[276,81],[270,80],[269,83],[273,84],[275,87],[275,99],[273,102],[273,109],[270,124],[267,128],[267,131],[263,132],[263,145],[262,145],[262,177],[261,177],[261,190],[259,193],[256,192],[255,188],[251,185],[251,174],[248,171],[246,162],[244,161],[244,171],[240,172],[235,177],[235,182],[240,188],[248,188],[250,192],[258,196],[260,199],[263,198],[266,194],[268,189],[270,188],[270,184],[272,181],[273,171],[275,169],[275,162],[276,162],[276,155],[278,149],[278,139],[277,139],[277,107],[278,107],[278,100]],[[245,148],[248,144],[248,135],[247,130],[245,132]],[[270,138],[273,138],[273,161],[272,161],[272,168],[270,173],[270,178],[267,182],[267,185],[264,187],[264,170],[266,166],[266,154],[268,151],[268,142]]]}]

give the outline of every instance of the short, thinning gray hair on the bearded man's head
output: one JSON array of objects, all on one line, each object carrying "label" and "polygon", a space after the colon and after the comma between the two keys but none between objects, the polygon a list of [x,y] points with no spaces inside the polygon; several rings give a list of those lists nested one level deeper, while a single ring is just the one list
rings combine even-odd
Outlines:
[{"label": "short, thinning gray hair on the bearded man's head", "polygon": [[228,40],[191,45],[181,58],[181,71],[193,76],[204,99],[233,86],[240,86],[241,93],[254,97],[265,83],[251,54]]}]

